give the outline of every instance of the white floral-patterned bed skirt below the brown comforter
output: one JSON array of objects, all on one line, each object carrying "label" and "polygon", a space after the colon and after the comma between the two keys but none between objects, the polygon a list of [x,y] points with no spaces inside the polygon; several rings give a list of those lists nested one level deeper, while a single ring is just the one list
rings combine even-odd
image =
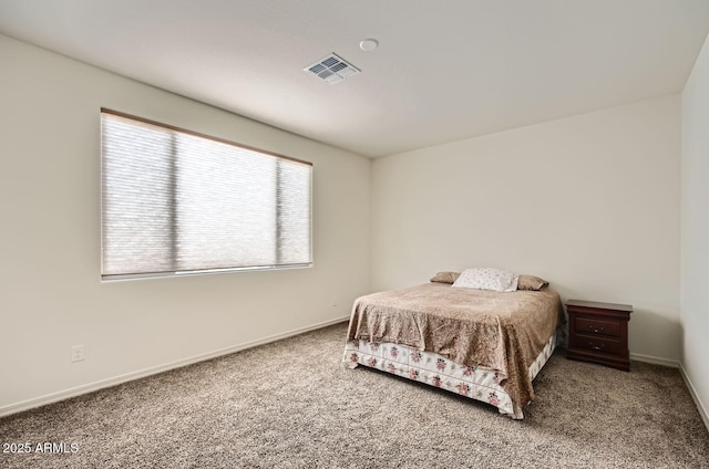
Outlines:
[{"label": "white floral-patterned bed skirt below the brown comforter", "polygon": [[[556,335],[530,366],[534,379],[556,347]],[[524,417],[522,407],[500,385],[495,369],[463,366],[433,352],[418,351],[400,344],[370,343],[352,340],[345,346],[342,362],[353,368],[364,365],[393,375],[418,381],[497,407],[501,414],[515,419]]]}]

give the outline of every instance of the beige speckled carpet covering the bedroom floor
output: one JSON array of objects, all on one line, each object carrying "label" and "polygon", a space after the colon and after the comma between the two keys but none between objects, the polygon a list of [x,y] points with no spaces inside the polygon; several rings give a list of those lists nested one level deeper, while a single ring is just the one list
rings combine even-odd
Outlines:
[{"label": "beige speckled carpet covering the bedroom floor", "polygon": [[[634,362],[624,373],[557,353],[514,421],[342,368],[345,332],[339,324],[6,417],[0,442],[31,452],[0,454],[0,467],[709,468],[709,432],[677,369]],[[69,452],[38,452],[44,442]]]}]

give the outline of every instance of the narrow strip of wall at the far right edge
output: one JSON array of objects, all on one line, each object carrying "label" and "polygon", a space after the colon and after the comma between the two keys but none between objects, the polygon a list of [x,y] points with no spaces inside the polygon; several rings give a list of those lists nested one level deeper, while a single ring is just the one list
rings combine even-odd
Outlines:
[{"label": "narrow strip of wall at the far right edge", "polygon": [[682,92],[682,369],[709,426],[709,38]]}]

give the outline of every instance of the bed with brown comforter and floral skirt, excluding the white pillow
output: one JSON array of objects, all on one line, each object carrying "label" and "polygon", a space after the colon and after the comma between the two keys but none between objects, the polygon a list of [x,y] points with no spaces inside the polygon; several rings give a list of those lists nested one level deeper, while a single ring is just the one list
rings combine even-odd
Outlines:
[{"label": "bed with brown comforter and floral skirt, excluding the white pillow", "polygon": [[522,419],[534,399],[532,382],[559,338],[559,295],[532,275],[516,275],[507,291],[460,288],[461,277],[439,272],[430,283],[358,298],[342,362],[482,400]]}]

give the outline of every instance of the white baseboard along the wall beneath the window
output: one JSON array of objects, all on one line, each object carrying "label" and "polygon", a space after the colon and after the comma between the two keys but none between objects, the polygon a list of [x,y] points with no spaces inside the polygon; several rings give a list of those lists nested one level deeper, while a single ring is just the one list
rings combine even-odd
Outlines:
[{"label": "white baseboard along the wall beneath the window", "polygon": [[[282,338],[292,337],[295,335],[299,335],[309,331],[315,331],[318,329],[327,327],[332,324],[338,324],[349,320],[349,315],[345,317],[339,317],[335,320],[325,321],[321,323],[312,324],[306,327],[299,327],[292,331],[284,332],[276,335],[270,335],[268,337],[263,337],[256,341],[246,342],[244,344],[234,345],[226,348],[220,348],[217,351],[195,355],[188,358],[178,359],[176,362],[166,363],[164,365],[153,366],[150,368],[141,369],[133,373],[127,373],[125,375],[114,376],[112,378],[102,379],[94,383],[89,383],[82,386],[72,387],[70,389],[60,390],[58,393],[48,394],[44,396],[40,396],[33,399],[23,400],[17,404],[10,404],[8,406],[0,407],[0,417],[6,417],[11,414],[17,414],[23,410],[29,410],[35,407],[44,406],[47,404],[58,403],[60,400],[69,399],[71,397],[81,396],[82,394],[93,393],[94,390],[103,389],[105,387],[111,387],[119,385],[121,383],[126,383],[133,379],[138,379],[145,376],[155,375],[158,373],[167,372],[169,369],[181,368],[183,366],[192,365],[194,363],[204,362],[207,359],[216,358],[218,356],[228,355],[235,352],[239,352],[246,348],[251,348],[258,345],[268,344],[271,342],[280,341]],[[342,342],[345,345],[345,342]]]}]

